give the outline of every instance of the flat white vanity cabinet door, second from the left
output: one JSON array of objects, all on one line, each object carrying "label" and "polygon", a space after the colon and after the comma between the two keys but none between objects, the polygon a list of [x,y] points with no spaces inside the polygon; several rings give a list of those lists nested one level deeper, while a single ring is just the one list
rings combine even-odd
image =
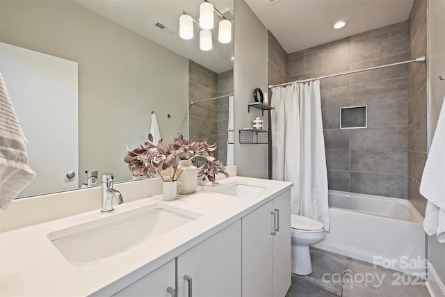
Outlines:
[{"label": "flat white vanity cabinet door, second from the left", "polygon": [[178,297],[241,296],[241,220],[180,255],[177,278]]}]

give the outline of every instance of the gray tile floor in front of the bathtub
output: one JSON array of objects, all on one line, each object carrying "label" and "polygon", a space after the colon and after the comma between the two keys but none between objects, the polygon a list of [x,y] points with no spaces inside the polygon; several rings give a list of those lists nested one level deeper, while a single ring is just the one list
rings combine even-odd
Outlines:
[{"label": "gray tile floor in front of the bathtub", "polygon": [[293,274],[286,297],[430,297],[411,275],[323,250],[311,249],[311,259],[312,274]]}]

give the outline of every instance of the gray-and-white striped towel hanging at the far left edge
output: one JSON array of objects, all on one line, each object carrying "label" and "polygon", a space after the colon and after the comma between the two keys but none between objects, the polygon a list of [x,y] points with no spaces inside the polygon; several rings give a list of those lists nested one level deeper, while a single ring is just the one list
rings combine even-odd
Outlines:
[{"label": "gray-and-white striped towel hanging at the far left edge", "polygon": [[0,208],[10,202],[35,177],[28,166],[26,138],[0,73]]}]

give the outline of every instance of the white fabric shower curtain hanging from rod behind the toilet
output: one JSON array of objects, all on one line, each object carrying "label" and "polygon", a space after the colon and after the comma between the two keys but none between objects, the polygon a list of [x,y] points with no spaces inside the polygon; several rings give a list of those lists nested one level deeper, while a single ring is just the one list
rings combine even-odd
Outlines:
[{"label": "white fabric shower curtain hanging from rod behind the toilet", "polygon": [[320,81],[272,89],[272,178],[293,182],[293,214],[330,229]]}]

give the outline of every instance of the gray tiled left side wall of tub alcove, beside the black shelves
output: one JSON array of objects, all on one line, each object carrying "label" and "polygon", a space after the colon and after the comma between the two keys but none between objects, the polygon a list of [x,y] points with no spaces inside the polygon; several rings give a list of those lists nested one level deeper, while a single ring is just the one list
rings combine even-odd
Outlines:
[{"label": "gray tiled left side wall of tub alcove, beside the black shelves", "polygon": [[[275,36],[268,33],[268,84],[284,83],[287,81],[287,63],[288,56],[286,51],[280,45],[280,42]],[[268,90],[269,100],[272,98],[272,93]],[[268,122],[270,121],[270,111],[267,112]],[[269,129],[270,130],[270,129]],[[272,133],[269,134],[268,145],[268,178],[272,178]]]}]

